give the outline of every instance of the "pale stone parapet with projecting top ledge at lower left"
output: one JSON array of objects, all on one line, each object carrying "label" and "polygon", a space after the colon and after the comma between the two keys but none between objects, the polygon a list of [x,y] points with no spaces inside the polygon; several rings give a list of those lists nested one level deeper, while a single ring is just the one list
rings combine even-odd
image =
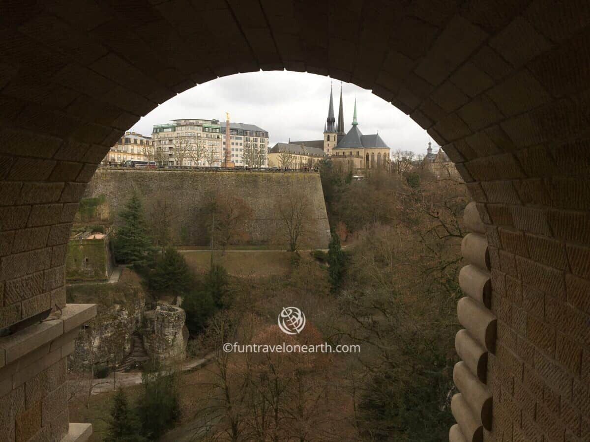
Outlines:
[{"label": "pale stone parapet with projecting top ledge at lower left", "polygon": [[0,338],[0,440],[90,437],[90,424],[68,423],[67,357],[78,328],[94,315],[94,304],[66,304],[45,321]]}]

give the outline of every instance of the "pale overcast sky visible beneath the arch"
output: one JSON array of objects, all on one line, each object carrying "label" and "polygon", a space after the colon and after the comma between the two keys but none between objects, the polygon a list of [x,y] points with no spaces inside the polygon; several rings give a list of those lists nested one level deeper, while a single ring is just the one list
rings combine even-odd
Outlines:
[{"label": "pale overcast sky visible beneath the arch", "polygon": [[[330,98],[329,77],[301,72],[249,72],[218,78],[160,104],[130,130],[152,133],[154,124],[177,118],[218,118],[230,113],[232,122],[255,124],[268,131],[270,147],[291,140],[321,140]],[[338,117],[340,81],[333,81],[334,113]],[[434,140],[393,105],[354,84],[343,83],[344,122],[350,129],[356,97],[357,119],[363,134],[379,135],[392,150],[425,154]],[[436,151],[436,149],[435,149]]]}]

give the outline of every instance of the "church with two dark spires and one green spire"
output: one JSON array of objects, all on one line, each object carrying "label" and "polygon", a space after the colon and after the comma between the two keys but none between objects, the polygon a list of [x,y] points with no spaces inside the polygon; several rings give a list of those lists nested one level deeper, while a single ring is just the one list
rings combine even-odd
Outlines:
[{"label": "church with two dark spires and one green spire", "polygon": [[362,170],[377,167],[388,168],[390,163],[389,146],[379,133],[365,135],[360,131],[356,113],[356,99],[352,124],[345,130],[342,85],[340,85],[340,103],[338,119],[334,113],[334,98],[330,87],[328,115],[324,123],[323,140],[290,141],[291,144],[312,149],[322,149],[324,154],[348,169]]}]

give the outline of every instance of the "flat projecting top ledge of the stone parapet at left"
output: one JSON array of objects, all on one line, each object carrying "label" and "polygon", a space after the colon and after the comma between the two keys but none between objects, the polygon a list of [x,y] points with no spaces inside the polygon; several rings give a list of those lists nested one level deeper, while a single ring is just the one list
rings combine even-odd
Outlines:
[{"label": "flat projecting top ledge of the stone parapet at left", "polygon": [[4,358],[0,357],[0,361],[4,359],[4,364],[14,362],[94,316],[96,304],[66,304],[59,318],[28,326],[15,334],[0,338],[0,353],[4,355]]}]

